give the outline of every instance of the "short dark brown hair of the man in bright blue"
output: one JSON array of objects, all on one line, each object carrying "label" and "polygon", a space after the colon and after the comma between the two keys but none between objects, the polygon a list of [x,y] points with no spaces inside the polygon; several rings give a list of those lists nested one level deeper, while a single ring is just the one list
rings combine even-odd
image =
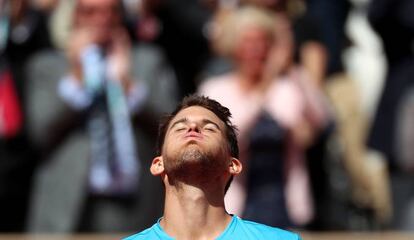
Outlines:
[{"label": "short dark brown hair of the man in bright blue", "polygon": [[232,157],[239,158],[239,147],[237,143],[237,128],[234,126],[231,121],[230,110],[219,102],[210,99],[205,96],[198,95],[189,95],[185,97],[182,102],[177,106],[177,108],[171,113],[166,115],[159,125],[158,129],[158,140],[157,140],[157,152],[158,155],[162,154],[162,148],[164,145],[165,135],[167,133],[168,126],[170,125],[171,120],[180,112],[181,110],[191,107],[199,106],[205,109],[212,111],[223,123],[226,125],[226,138],[229,145],[230,154]]}]

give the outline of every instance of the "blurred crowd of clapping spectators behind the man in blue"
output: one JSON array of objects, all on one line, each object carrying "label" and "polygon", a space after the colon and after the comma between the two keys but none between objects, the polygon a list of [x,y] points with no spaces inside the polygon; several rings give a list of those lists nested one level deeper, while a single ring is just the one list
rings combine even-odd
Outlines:
[{"label": "blurred crowd of clapping spectators behind the man in blue", "polygon": [[[0,0],[0,232],[149,227],[163,208],[148,171],[157,124],[192,93],[238,126],[229,213],[414,231],[413,12],[410,0]],[[372,111],[369,80],[383,82]]]}]

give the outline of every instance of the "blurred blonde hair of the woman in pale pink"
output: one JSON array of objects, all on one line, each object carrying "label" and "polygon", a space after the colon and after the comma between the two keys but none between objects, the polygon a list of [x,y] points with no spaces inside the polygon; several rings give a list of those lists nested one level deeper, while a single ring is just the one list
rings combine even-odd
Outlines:
[{"label": "blurred blonde hair of the woman in pale pink", "polygon": [[243,31],[259,28],[272,40],[275,37],[275,23],[276,15],[258,7],[243,6],[220,12],[210,29],[212,47],[217,54],[231,57]]}]

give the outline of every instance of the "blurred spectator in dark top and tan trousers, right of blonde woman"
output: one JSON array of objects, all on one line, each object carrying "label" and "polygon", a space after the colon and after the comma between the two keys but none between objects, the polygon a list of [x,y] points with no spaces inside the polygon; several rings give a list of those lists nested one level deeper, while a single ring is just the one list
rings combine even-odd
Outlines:
[{"label": "blurred spectator in dark top and tan trousers, right of blonde woman", "polygon": [[[359,120],[362,115],[356,114],[359,112],[357,90],[352,90],[352,79],[342,72],[340,53],[346,42],[344,24],[349,10],[348,1],[246,2],[275,11],[284,16],[282,20],[290,20],[293,37],[289,33],[282,36],[285,42],[294,42],[293,61],[290,64],[294,62],[302,66],[309,75],[308,81],[299,84],[307,102],[312,102],[309,101],[312,96],[324,98],[327,92],[330,104],[338,115],[336,117],[339,117],[335,124],[328,117],[328,124],[315,132],[314,140],[306,149],[315,203],[315,219],[307,228],[349,229],[355,227],[352,222],[358,218],[370,223],[386,222],[390,215],[386,167],[382,165],[380,155],[366,151],[361,144],[363,134]],[[330,78],[327,79],[327,76]],[[311,105],[309,107],[312,108]],[[348,114],[353,114],[353,118],[347,118]],[[336,141],[338,137],[340,141]],[[343,184],[339,187],[335,182]],[[349,185],[345,182],[349,182]],[[360,226],[360,229],[372,228],[367,225]]]}]

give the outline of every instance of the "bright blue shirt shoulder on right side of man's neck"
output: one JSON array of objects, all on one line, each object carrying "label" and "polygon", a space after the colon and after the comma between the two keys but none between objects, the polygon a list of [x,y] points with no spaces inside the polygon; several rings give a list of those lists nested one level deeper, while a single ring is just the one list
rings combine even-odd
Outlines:
[{"label": "bright blue shirt shoulder on right side of man's neck", "polygon": [[300,236],[296,233],[283,230],[276,227],[271,227],[261,223],[242,220],[242,227],[245,231],[248,231],[251,234],[260,236],[261,239],[283,239],[283,240],[300,240]]}]

